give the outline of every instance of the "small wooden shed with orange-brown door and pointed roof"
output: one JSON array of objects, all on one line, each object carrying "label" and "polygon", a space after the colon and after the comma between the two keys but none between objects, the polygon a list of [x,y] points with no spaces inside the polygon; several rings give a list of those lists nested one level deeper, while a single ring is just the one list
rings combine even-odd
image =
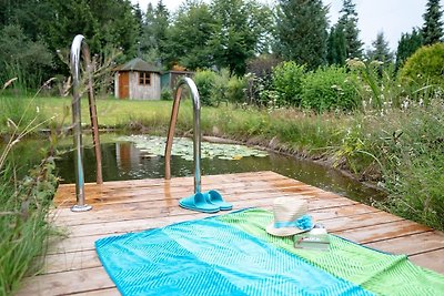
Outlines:
[{"label": "small wooden shed with orange-brown door and pointed roof", "polygon": [[161,75],[158,68],[135,58],[115,70],[115,98],[160,100]]}]

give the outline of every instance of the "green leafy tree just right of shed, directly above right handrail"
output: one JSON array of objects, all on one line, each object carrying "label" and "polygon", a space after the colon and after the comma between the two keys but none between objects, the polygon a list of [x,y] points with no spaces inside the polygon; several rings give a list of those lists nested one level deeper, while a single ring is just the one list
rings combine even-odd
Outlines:
[{"label": "green leafy tree just right of shed, directly above right handrail", "polygon": [[189,70],[210,68],[213,64],[210,41],[215,24],[206,3],[188,1],[181,6],[174,24],[168,30],[168,67],[180,64]]}]

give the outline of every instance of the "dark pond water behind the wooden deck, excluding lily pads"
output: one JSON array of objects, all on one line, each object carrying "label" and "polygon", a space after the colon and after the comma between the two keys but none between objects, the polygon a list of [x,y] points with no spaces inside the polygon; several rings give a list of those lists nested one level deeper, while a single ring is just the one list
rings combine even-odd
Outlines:
[{"label": "dark pond water behind the wooden deck, excluding lily pads", "polygon": [[[113,142],[101,145],[104,181],[164,177],[164,157],[147,155],[132,142]],[[74,154],[68,152],[57,161],[62,183],[74,183]],[[306,160],[296,160],[276,153],[265,157],[246,156],[240,160],[202,159],[202,183],[204,175],[256,171],[273,171],[306,184],[335,192],[355,201],[369,203],[383,198],[384,194],[350,178],[340,171]],[[171,159],[171,174],[192,176],[193,162],[180,156]],[[84,149],[85,182],[95,182],[95,157],[92,147]]]}]

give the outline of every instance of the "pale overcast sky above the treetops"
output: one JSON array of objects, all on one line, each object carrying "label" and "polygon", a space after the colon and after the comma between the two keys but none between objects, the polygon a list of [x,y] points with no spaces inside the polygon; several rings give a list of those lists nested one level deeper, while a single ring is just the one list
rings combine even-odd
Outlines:
[{"label": "pale overcast sky above the treetops", "polygon": [[[441,6],[443,1],[441,0]],[[131,0],[131,2],[139,2],[141,9],[145,10],[149,2],[155,6],[158,0]],[[181,2],[181,0],[163,0],[170,11],[175,11]],[[261,0],[261,2],[271,2],[271,0]],[[334,24],[343,1],[323,0],[323,2],[330,6],[330,23]],[[395,51],[402,33],[423,25],[427,0],[354,0],[353,2],[356,4],[360,38],[364,42],[364,49],[371,48],[377,33],[382,31],[390,48]]]}]

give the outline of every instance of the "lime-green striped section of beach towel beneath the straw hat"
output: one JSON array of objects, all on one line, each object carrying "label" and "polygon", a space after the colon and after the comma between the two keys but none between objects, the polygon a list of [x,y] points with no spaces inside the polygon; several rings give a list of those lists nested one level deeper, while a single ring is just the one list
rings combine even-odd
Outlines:
[{"label": "lime-green striped section of beach towel beneath the straw hat", "polygon": [[265,232],[273,214],[260,208],[218,218],[375,294],[444,295],[444,275],[414,265],[405,255],[385,254],[334,235],[330,235],[329,252],[294,248],[291,237]]}]

